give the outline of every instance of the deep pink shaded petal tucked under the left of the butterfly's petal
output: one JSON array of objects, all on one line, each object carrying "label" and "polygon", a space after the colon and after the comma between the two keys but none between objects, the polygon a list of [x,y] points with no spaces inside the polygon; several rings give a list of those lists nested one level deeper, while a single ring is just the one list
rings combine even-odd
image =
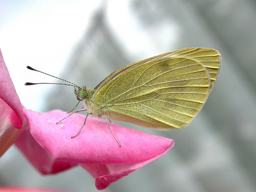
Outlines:
[{"label": "deep pink shaded petal tucked under the left of the butterfly's petal", "polygon": [[42,148],[30,134],[27,121],[24,121],[24,125],[27,127],[17,138],[15,145],[42,174],[57,173],[77,165],[76,162],[53,159],[51,154]]}]

